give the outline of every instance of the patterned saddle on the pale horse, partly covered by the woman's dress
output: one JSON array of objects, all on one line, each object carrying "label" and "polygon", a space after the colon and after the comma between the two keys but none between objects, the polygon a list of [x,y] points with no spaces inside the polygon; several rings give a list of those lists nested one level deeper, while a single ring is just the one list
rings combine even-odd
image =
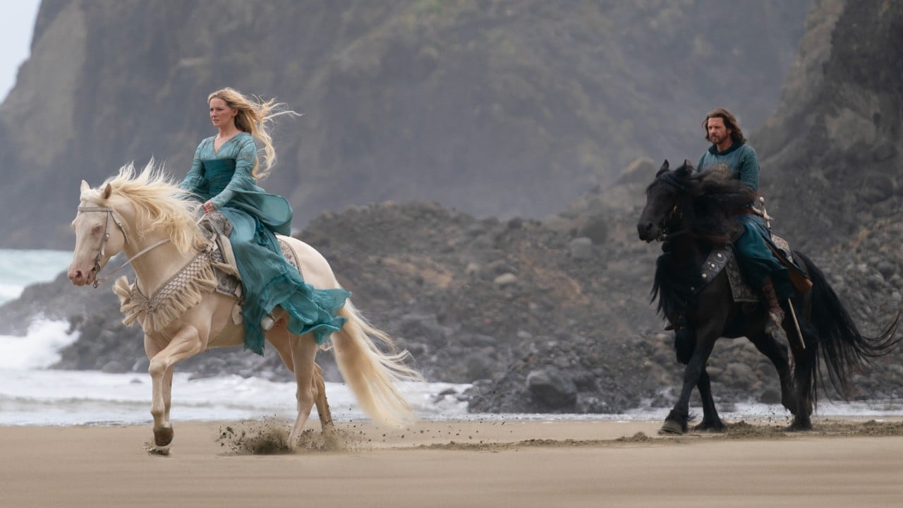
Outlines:
[{"label": "patterned saddle on the pale horse, partly covered by the woman's dress", "polygon": [[[241,309],[245,300],[242,297],[241,275],[238,272],[235,255],[232,253],[232,242],[228,239],[228,235],[232,232],[232,222],[228,221],[228,218],[222,213],[212,212],[204,214],[200,218],[198,226],[203,231],[204,237],[213,244],[213,253],[210,258],[213,273],[217,278],[216,291],[237,300],[232,312],[232,320],[238,325],[242,322]],[[282,249],[285,259],[294,269],[298,270],[298,273],[302,273],[298,254],[281,237],[276,236],[276,240],[279,240],[279,248]]]}]

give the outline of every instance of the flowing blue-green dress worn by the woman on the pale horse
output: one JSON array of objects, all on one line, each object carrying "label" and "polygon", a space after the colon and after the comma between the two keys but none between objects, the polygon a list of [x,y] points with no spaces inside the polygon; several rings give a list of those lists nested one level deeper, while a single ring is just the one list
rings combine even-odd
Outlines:
[{"label": "flowing blue-green dress worn by the woman on the pale horse", "polygon": [[288,312],[293,334],[312,333],[317,343],[338,332],[338,315],[350,296],[344,289],[315,289],[285,260],[275,233],[289,235],[293,211],[284,197],[265,193],[251,176],[257,159],[254,137],[242,132],[219,150],[214,138],[200,142],[182,189],[210,201],[232,222],[229,240],[244,287],[245,348],[264,352],[260,321],[276,306]]}]

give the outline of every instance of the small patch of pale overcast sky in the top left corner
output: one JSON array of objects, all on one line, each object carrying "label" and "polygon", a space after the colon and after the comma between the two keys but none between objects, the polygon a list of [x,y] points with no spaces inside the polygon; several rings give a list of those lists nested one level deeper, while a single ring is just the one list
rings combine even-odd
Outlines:
[{"label": "small patch of pale overcast sky in the top left corner", "polygon": [[40,0],[0,1],[0,99],[6,99],[19,65],[28,58],[38,5]]}]

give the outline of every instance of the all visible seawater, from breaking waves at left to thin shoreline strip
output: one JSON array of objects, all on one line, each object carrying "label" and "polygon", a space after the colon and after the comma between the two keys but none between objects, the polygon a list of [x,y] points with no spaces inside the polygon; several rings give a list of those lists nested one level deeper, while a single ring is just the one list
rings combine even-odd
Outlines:
[{"label": "all visible seawater, from breaking waves at left to thin shoreline strip", "polygon": [[[24,287],[56,278],[71,254],[59,250],[0,249],[0,305]],[[87,297],[87,296],[86,296]],[[0,426],[138,424],[150,421],[151,382],[145,372],[107,374],[48,369],[61,348],[78,340],[62,321],[36,320],[24,336],[0,335]],[[178,369],[178,368],[177,368]],[[366,419],[342,383],[326,383],[333,418]],[[470,414],[459,400],[469,384],[405,383],[401,389],[420,419],[644,420],[664,419],[667,409],[638,408],[623,414],[546,415]],[[221,421],[267,417],[294,419],[294,383],[222,375],[191,379],[176,372],[172,387],[173,420]],[[721,409],[721,408],[720,408]],[[736,404],[722,418],[787,419],[780,406]],[[316,409],[312,418],[315,419]],[[899,401],[819,403],[821,416],[903,416]]]}]

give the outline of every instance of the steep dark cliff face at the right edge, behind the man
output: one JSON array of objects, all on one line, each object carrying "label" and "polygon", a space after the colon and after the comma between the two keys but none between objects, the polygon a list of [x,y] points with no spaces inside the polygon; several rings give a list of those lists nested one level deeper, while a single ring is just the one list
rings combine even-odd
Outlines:
[{"label": "steep dark cliff face at the right edge, behind the man", "polygon": [[[756,133],[780,228],[843,248],[903,220],[903,5],[815,2],[773,117]],[[898,237],[879,246],[901,268]],[[899,270],[897,270],[899,271]]]}]

